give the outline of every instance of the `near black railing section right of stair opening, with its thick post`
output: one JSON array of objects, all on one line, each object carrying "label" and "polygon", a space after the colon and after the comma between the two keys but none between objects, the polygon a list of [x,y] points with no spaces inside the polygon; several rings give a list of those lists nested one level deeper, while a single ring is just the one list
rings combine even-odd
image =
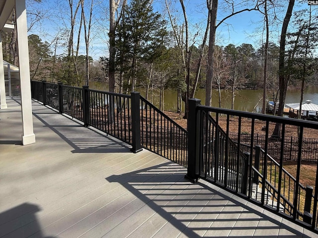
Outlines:
[{"label": "near black railing section right of stair opening, with its thick post", "polygon": [[[226,125],[223,127],[219,123],[221,115],[227,117]],[[264,143],[261,146],[255,143],[255,121],[263,123],[265,128]],[[272,136],[276,123],[280,125],[279,137]],[[304,131],[318,130],[317,122],[206,107],[200,105],[200,100],[190,99],[188,124],[192,125],[192,128],[188,127],[188,179],[206,179],[274,213],[299,224],[303,224],[300,221],[304,221],[313,230],[316,229],[317,170],[312,181],[316,186],[305,188],[300,180],[301,172],[305,171],[302,166]],[[298,144],[294,145],[297,147],[294,176],[284,168],[284,152],[287,150],[284,138],[287,125],[299,131]],[[242,143],[242,130],[250,131],[248,144]],[[231,132],[235,133],[236,137],[232,137]],[[273,140],[280,141],[278,161],[268,155],[269,144]],[[258,186],[256,191],[255,184]],[[243,187],[244,185],[246,187]]]}]

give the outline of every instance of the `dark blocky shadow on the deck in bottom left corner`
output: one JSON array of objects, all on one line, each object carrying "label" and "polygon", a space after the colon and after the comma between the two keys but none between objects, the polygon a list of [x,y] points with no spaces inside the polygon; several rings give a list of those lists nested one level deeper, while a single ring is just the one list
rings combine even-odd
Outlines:
[{"label": "dark blocky shadow on the deck in bottom left corner", "polygon": [[[11,219],[15,219],[16,224],[25,224],[27,225],[27,229],[38,231],[36,233],[36,237],[38,238],[53,238],[44,236],[41,232],[41,226],[36,218],[36,213],[39,212],[41,209],[34,204],[30,203],[23,203],[19,206],[13,207],[9,210],[6,210],[0,213],[0,237],[18,237],[23,238],[26,237],[24,234],[23,229],[14,230],[11,226],[6,225],[11,221]],[[28,212],[27,215],[19,215],[24,214],[25,211]],[[20,216],[16,218],[17,216]],[[32,221],[31,223],[29,221]]]}]

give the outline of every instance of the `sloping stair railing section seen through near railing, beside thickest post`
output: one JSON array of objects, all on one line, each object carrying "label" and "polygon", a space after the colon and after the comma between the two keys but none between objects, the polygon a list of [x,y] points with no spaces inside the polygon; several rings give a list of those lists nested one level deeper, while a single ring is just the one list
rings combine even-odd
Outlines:
[{"label": "sloping stair railing section seen through near railing, beside thickest post", "polygon": [[229,189],[247,193],[248,154],[218,126],[207,111],[200,111],[200,176]]}]

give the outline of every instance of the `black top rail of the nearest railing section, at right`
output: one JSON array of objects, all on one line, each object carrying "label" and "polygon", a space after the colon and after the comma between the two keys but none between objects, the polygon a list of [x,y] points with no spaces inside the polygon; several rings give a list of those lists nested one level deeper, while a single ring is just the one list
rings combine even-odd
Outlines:
[{"label": "black top rail of the nearest railing section, at right", "polygon": [[312,129],[318,129],[318,122],[315,122],[315,121],[308,121],[308,120],[303,120],[303,119],[283,118],[283,117],[278,117],[278,116],[263,115],[263,114],[250,113],[250,112],[241,112],[241,111],[232,110],[232,109],[208,107],[208,106],[204,106],[204,105],[199,105],[198,108],[200,110],[203,110],[206,112],[229,114],[229,115],[243,117],[243,118],[268,120],[271,122],[284,123],[284,124],[290,124],[290,125],[296,125],[296,126],[304,126],[304,127],[308,127],[308,128],[312,128]]}]

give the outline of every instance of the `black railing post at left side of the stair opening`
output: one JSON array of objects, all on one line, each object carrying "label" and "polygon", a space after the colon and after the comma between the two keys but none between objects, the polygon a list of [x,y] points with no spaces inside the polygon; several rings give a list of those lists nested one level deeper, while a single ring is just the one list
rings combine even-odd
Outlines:
[{"label": "black railing post at left side of the stair opening", "polygon": [[140,142],[140,93],[131,92],[132,148],[134,153],[143,150]]}]

